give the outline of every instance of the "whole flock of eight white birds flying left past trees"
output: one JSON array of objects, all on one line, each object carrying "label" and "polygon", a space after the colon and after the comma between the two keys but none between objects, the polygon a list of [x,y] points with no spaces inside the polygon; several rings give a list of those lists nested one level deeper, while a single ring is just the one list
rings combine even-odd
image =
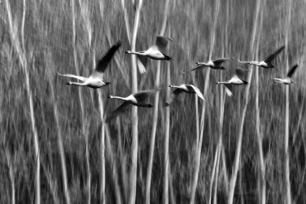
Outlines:
[{"label": "whole flock of eight white birds flying left past trees", "polygon": [[[171,60],[171,58],[169,56],[165,55],[165,48],[167,46],[168,41],[175,42],[171,38],[168,38],[168,37],[165,37],[165,36],[157,36],[156,43],[153,46],[151,46],[148,50],[140,51],[140,52],[132,52],[132,51],[128,50],[125,53],[126,54],[134,54],[134,55],[138,56],[137,64],[138,64],[139,72],[144,73],[148,58],[154,59],[154,60]],[[58,73],[58,74],[62,75],[64,77],[76,78],[80,81],[83,81],[83,83],[68,81],[67,85],[88,86],[90,88],[100,88],[100,87],[107,86],[107,85],[110,84],[110,82],[104,81],[104,79],[103,79],[104,78],[104,72],[105,72],[105,69],[107,68],[108,63],[110,62],[110,60],[112,59],[113,55],[115,54],[116,50],[120,47],[120,45],[121,45],[121,41],[119,40],[110,48],[110,50],[107,52],[107,54],[99,61],[98,65],[96,66],[96,68],[94,70],[94,72],[91,74],[91,76],[89,78],[80,77],[80,76],[73,75],[73,74],[60,74],[60,73]],[[284,48],[285,48],[285,46],[282,46],[281,48],[276,50],[276,52],[269,55],[265,60],[263,60],[261,62],[257,62],[257,61],[242,62],[240,60],[238,60],[238,61],[240,63],[252,64],[252,65],[256,65],[256,66],[260,66],[260,67],[264,67],[264,68],[272,68],[272,67],[274,67],[271,64],[272,60],[279,53],[281,53]],[[196,63],[198,65],[197,67],[195,67],[195,68],[193,68],[193,69],[191,69],[187,72],[182,71],[182,73],[188,73],[190,71],[198,70],[198,69],[201,69],[201,68],[204,68],[204,67],[210,67],[212,69],[225,69],[221,64],[225,61],[232,60],[234,58],[235,57],[216,59],[216,60],[209,61],[207,63],[197,62]],[[280,83],[280,84],[287,84],[288,85],[288,84],[293,83],[291,81],[291,77],[292,77],[292,74],[294,73],[297,66],[298,65],[296,64],[290,69],[290,71],[288,72],[287,77],[285,79],[278,79],[278,78],[272,78],[272,79],[274,80],[275,83]],[[226,91],[227,95],[232,96],[233,95],[232,85],[248,84],[248,82],[243,81],[241,79],[244,71],[249,71],[249,70],[243,69],[243,68],[236,68],[236,74],[234,75],[234,77],[232,79],[230,79],[228,81],[225,81],[225,82],[217,82],[216,84],[224,84],[225,85],[225,91]],[[198,97],[200,97],[202,100],[204,100],[203,94],[194,85],[191,85],[191,84],[183,84],[183,85],[180,85],[180,86],[170,85],[169,87],[176,88],[176,89],[171,92],[171,95],[167,99],[165,106],[169,106],[171,101],[174,99],[174,97],[176,95],[182,93],[182,92],[195,93],[195,94],[198,95]],[[148,101],[146,101],[146,99],[149,95],[155,93],[159,89],[160,88],[156,88],[156,89],[148,90],[148,91],[140,91],[140,92],[131,94],[127,97],[119,97],[119,96],[112,96],[112,95],[108,96],[108,98],[121,99],[121,100],[124,100],[124,102],[108,116],[108,118],[105,120],[105,123],[109,122],[110,120],[112,120],[113,118],[117,117],[118,115],[124,113],[125,111],[129,110],[129,108],[131,106],[148,107],[148,108],[152,107],[152,105],[149,104]]]}]

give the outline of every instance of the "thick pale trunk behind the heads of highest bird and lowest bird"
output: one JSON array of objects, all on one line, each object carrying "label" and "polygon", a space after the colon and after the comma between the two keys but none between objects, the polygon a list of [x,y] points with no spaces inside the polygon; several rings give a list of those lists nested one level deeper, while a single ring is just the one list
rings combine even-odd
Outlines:
[{"label": "thick pale trunk behind the heads of highest bird and lowest bird", "polygon": [[[134,28],[132,35],[131,51],[135,52],[136,38],[139,24],[140,10],[142,6],[142,0],[139,0],[138,7],[136,9]],[[132,59],[132,93],[137,92],[137,62],[136,55],[131,55]],[[138,154],[138,117],[137,107],[132,107],[132,145],[131,145],[131,158],[132,163],[130,166],[130,198],[129,203],[133,204],[136,201],[136,180],[137,180],[137,154]]]}]

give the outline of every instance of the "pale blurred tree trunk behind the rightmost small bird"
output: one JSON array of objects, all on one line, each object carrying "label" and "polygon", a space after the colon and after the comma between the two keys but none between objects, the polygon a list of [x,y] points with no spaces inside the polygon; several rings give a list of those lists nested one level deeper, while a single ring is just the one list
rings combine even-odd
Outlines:
[{"label": "pale blurred tree trunk behind the rightmost small bird", "polygon": [[[286,72],[290,69],[289,67],[289,55],[288,55],[288,41],[290,35],[290,24],[291,24],[291,10],[292,10],[292,1],[288,1],[288,17],[286,23],[286,35],[285,35],[285,57],[286,57]],[[285,186],[286,186],[286,203],[291,203],[291,190],[290,190],[290,167],[289,167],[289,152],[288,152],[288,143],[289,143],[289,86],[286,86],[286,116],[285,116]]]}]

